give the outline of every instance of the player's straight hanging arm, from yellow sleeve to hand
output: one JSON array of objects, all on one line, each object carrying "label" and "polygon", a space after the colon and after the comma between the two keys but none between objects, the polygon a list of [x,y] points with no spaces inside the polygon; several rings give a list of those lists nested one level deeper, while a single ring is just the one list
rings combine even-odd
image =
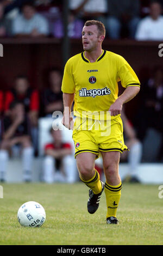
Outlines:
[{"label": "player's straight hanging arm, from yellow sleeve to hand", "polygon": [[73,118],[71,116],[71,107],[74,101],[75,83],[72,75],[72,59],[69,59],[65,65],[64,76],[62,79],[62,93],[64,103],[64,116],[62,118],[62,124],[69,130],[73,130]]}]

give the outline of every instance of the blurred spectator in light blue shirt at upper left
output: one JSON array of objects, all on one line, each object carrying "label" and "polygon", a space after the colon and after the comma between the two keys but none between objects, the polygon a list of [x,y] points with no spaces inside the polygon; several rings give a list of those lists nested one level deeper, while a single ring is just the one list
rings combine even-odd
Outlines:
[{"label": "blurred spectator in light blue shirt at upper left", "polygon": [[48,22],[45,17],[37,14],[33,3],[23,4],[22,13],[12,24],[12,34],[18,37],[40,37],[49,34]]}]

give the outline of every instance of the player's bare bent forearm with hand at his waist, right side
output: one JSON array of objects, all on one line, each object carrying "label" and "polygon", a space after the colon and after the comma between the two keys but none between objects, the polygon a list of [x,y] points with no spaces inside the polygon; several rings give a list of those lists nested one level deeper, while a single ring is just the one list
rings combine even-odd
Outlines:
[{"label": "player's bare bent forearm with hand at his waist, right side", "polygon": [[117,100],[110,106],[109,111],[111,115],[121,114],[122,106],[124,103],[133,99],[137,93],[139,93],[140,87],[129,86],[124,92],[117,98]]}]

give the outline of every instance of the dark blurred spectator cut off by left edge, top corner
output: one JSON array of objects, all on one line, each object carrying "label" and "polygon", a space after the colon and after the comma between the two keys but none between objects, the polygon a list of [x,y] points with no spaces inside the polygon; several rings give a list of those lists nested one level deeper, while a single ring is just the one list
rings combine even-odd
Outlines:
[{"label": "dark blurred spectator cut off by left edge, top corner", "polygon": [[4,7],[0,3],[0,37],[5,37],[10,34],[11,24],[8,19],[4,17]]}]

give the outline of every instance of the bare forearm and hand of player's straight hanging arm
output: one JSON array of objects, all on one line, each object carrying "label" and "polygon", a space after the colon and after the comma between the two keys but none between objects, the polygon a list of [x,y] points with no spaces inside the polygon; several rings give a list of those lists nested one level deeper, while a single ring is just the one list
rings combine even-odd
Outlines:
[{"label": "bare forearm and hand of player's straight hanging arm", "polygon": [[71,107],[74,100],[74,93],[63,93],[64,116],[62,124],[69,130],[73,130],[73,118],[71,116]]}]

